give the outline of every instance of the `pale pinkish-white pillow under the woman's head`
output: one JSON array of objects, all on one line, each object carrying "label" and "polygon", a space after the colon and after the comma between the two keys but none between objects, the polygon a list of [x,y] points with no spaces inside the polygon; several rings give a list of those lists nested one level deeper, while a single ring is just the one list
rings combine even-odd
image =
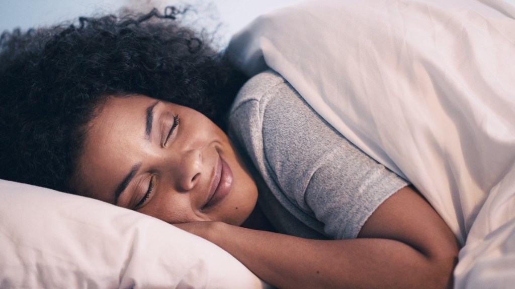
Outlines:
[{"label": "pale pinkish-white pillow under the woman's head", "polygon": [[150,216],[0,180],[2,288],[266,288],[220,247]]}]

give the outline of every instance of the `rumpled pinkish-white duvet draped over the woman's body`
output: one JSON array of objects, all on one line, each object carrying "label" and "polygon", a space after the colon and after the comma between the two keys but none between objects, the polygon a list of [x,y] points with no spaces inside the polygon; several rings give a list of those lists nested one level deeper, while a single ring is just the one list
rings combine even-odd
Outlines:
[{"label": "rumpled pinkish-white duvet draped over the woman's body", "polygon": [[456,288],[512,288],[514,19],[501,0],[318,0],[260,17],[228,53],[424,194],[464,244]]}]

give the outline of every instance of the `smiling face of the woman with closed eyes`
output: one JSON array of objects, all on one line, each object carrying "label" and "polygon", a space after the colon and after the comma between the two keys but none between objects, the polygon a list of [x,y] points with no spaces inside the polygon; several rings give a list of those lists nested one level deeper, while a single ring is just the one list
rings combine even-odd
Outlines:
[{"label": "smiling face of the woman with closed eyes", "polygon": [[195,110],[141,95],[109,97],[98,110],[72,187],[168,223],[241,225],[258,196],[217,125]]}]

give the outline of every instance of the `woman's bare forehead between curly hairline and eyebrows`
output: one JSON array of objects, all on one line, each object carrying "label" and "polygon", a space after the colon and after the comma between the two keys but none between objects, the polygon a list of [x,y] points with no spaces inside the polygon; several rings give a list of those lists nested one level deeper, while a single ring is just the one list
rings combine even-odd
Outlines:
[{"label": "woman's bare forehead between curly hairline and eyebrows", "polygon": [[109,97],[89,123],[78,159],[75,190],[112,203],[116,182],[139,161],[145,149],[147,107],[144,96]]}]

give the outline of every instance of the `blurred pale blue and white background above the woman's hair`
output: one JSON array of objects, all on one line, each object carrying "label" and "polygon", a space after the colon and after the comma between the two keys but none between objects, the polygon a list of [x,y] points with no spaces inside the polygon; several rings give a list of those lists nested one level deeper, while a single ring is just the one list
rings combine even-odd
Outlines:
[{"label": "blurred pale blue and white background above the woman's hair", "polygon": [[[225,23],[220,33],[228,41],[230,35],[248,24],[261,13],[301,0],[0,0],[0,32],[21,27],[27,29],[40,25],[52,25],[88,16],[93,12],[115,13],[122,6],[147,5],[163,8],[167,5],[191,3],[200,9],[212,9],[213,15]],[[515,0],[514,0],[515,1]],[[144,11],[148,11],[145,8]],[[205,12],[204,12],[205,13]],[[218,21],[208,24],[216,25]]]}]

